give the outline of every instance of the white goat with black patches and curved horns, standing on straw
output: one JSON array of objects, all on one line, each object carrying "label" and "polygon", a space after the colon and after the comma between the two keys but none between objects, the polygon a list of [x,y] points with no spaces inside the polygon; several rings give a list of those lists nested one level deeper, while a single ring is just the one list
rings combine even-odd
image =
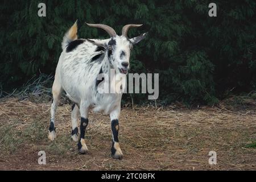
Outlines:
[{"label": "white goat with black patches and curved horns, standing on straw", "polygon": [[[77,22],[66,32],[62,42],[63,52],[56,67],[55,80],[52,85],[51,121],[48,138],[56,138],[55,113],[63,90],[74,102],[72,106],[72,139],[78,142],[81,154],[88,152],[85,144],[85,130],[88,126],[88,111],[110,115],[112,129],[111,154],[114,159],[122,159],[123,153],[118,142],[119,114],[121,111],[121,93],[99,93],[97,76],[100,73],[109,75],[110,69],[126,75],[129,70],[130,52],[134,44],[145,38],[146,33],[133,39],[127,38],[131,27],[142,24],[127,24],[118,36],[112,27],[105,24],[88,24],[89,27],[101,28],[108,32],[109,39],[77,39]],[[77,115],[81,115],[80,138],[77,125]]]}]

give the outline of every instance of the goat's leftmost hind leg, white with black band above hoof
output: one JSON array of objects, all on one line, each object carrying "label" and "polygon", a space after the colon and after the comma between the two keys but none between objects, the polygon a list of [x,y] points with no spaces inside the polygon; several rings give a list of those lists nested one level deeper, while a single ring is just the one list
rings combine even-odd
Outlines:
[{"label": "goat's leftmost hind leg, white with black band above hoof", "polygon": [[48,138],[49,140],[54,140],[56,138],[56,131],[55,131],[55,113],[57,110],[57,106],[60,101],[60,94],[61,94],[62,88],[60,83],[55,79],[52,85],[52,105],[51,105],[51,121],[49,126],[49,134]]}]

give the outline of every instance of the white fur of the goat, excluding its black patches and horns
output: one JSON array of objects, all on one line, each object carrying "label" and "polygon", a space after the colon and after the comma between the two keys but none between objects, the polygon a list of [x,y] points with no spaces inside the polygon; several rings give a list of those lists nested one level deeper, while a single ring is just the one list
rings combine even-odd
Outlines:
[{"label": "white fur of the goat, excluding its black patches and horns", "polygon": [[[127,71],[129,65],[124,67],[122,63],[129,63],[130,49],[133,47],[133,43],[138,43],[145,36],[143,34],[133,39],[127,39],[126,36],[118,35],[105,40],[81,39],[84,42],[68,52],[67,47],[69,44],[77,39],[76,28],[77,24],[75,23],[63,38],[63,52],[57,64],[55,80],[52,86],[53,102],[51,106],[51,122],[54,123],[60,94],[62,90],[65,90],[67,97],[76,104],[72,111],[73,130],[77,127],[77,114],[79,111],[83,118],[88,118],[88,111],[92,109],[102,114],[109,114],[111,120],[119,119],[122,92],[99,93],[96,84],[97,77],[101,71],[110,76],[110,69],[112,68],[116,73],[123,72],[123,70]],[[115,42],[111,48],[109,48],[110,41]],[[96,51],[99,46],[104,47],[105,50]],[[110,49],[112,54],[109,56],[108,52]],[[96,55],[101,56],[97,60],[92,61],[92,58]],[[108,82],[105,81],[104,84],[108,84]],[[55,137],[55,132],[49,133],[49,139],[53,140]],[[78,140],[77,136],[72,138],[75,141]],[[85,153],[88,151],[88,148],[85,140],[81,139],[81,141],[81,152]],[[113,142],[115,142],[114,139]],[[122,155],[119,144],[117,146],[116,157]]]}]

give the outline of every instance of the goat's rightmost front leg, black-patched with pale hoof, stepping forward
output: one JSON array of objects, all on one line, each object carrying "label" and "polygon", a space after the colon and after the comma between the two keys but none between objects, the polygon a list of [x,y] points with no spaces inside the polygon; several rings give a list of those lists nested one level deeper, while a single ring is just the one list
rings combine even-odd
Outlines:
[{"label": "goat's rightmost front leg, black-patched with pale hoof, stepping forward", "polygon": [[112,148],[111,148],[111,154],[114,159],[122,159],[123,158],[123,152],[119,146],[118,141],[118,131],[119,131],[119,123],[118,118],[120,114],[120,107],[110,113],[110,120],[111,120],[111,130],[112,130]]}]

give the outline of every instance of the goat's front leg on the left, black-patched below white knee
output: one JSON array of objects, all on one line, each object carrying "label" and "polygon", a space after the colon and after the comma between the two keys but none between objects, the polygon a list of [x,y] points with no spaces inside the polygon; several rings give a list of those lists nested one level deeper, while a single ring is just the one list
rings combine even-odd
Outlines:
[{"label": "goat's front leg on the left, black-patched below white knee", "polygon": [[88,125],[88,105],[86,103],[81,103],[80,105],[81,123],[80,123],[80,139],[77,144],[78,150],[81,154],[86,154],[88,152],[88,147],[85,144],[85,130]]}]

